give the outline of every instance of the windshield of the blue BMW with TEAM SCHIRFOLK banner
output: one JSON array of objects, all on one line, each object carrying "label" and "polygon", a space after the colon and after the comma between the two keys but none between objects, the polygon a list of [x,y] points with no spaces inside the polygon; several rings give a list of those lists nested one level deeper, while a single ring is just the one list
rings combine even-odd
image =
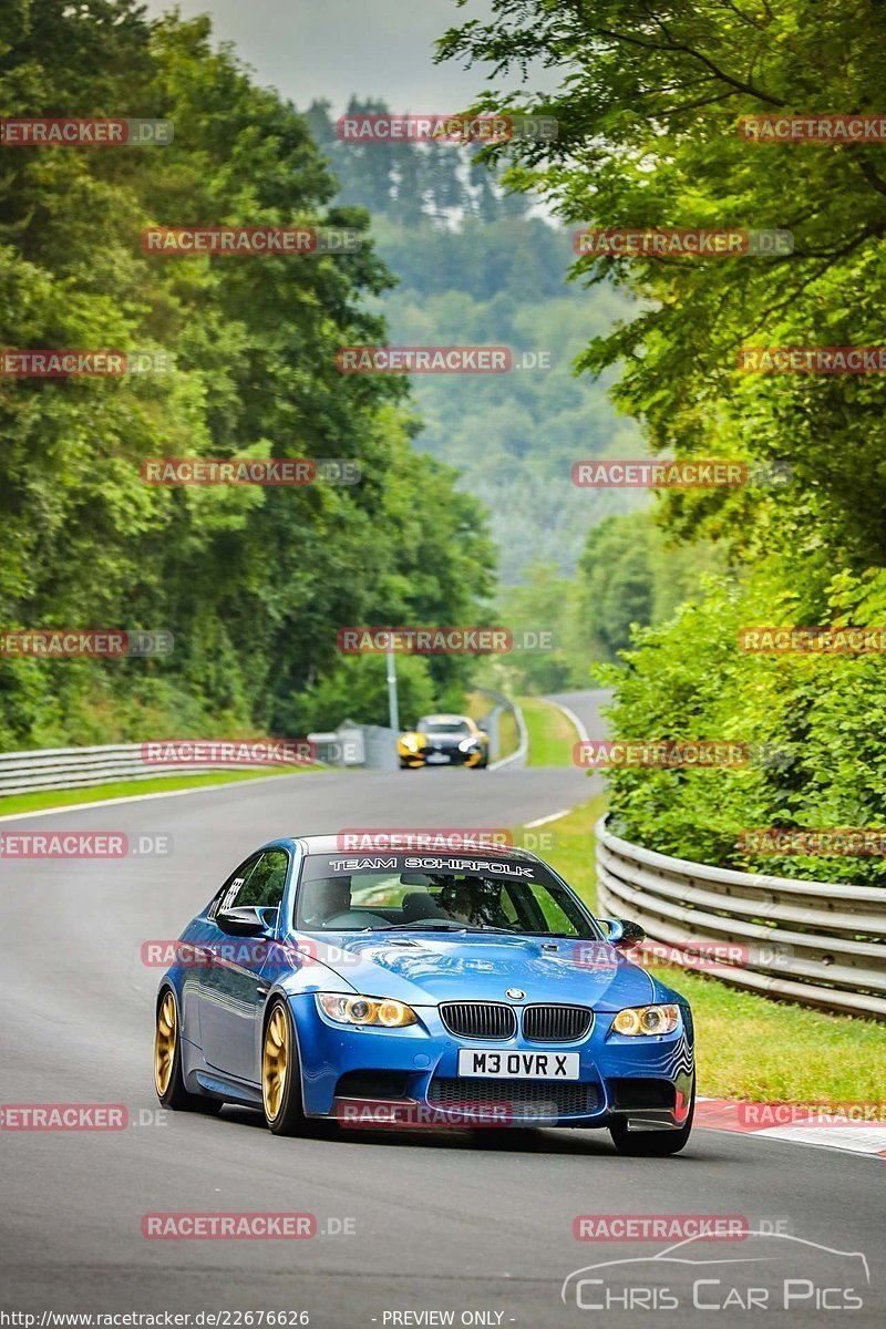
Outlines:
[{"label": "windshield of the blue BMW with TEAM SCHIRFOLK banner", "polygon": [[596,938],[573,893],[533,860],[389,853],[310,856],[299,932],[484,932]]}]

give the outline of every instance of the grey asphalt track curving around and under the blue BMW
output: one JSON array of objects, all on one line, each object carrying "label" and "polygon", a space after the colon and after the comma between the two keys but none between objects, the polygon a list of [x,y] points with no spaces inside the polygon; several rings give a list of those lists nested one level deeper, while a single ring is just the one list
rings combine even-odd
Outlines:
[{"label": "grey asphalt track curving around and under the blue BMW", "polygon": [[[796,1313],[725,1310],[715,1322],[882,1324],[883,1172],[875,1159],[701,1130],[683,1155],[646,1160],[619,1158],[608,1135],[592,1131],[324,1127],[286,1140],[243,1110],[226,1108],[215,1120],[157,1116],[159,974],[142,966],[141,945],[178,936],[250,848],[276,833],[344,827],[517,824],[575,805],[590,788],[573,769],[294,776],[0,825],[166,835],[173,851],[118,864],[0,867],[0,1098],[122,1103],[135,1123],[116,1134],[0,1131],[0,1309],[33,1313],[37,1325],[44,1310],[308,1312],[319,1329],[440,1324],[446,1321],[402,1316],[448,1310],[453,1324],[580,1325],[594,1312],[562,1304],[563,1278],[598,1261],[651,1256],[662,1243],[580,1243],[573,1235],[578,1215],[725,1213],[782,1220],[806,1241],[865,1252],[873,1285],[861,1289],[865,1308],[851,1314],[817,1310],[816,1290]],[[145,1213],[190,1211],[313,1213],[319,1235],[142,1237]],[[339,1223],[356,1231],[336,1235]],[[777,1269],[806,1273],[810,1249],[781,1241]],[[709,1260],[721,1248],[695,1251]],[[660,1292],[665,1275],[642,1268],[642,1281]],[[772,1260],[766,1268],[772,1276]],[[723,1286],[747,1285],[751,1275],[727,1277]],[[708,1288],[708,1304],[723,1300],[723,1286]],[[643,1318],[623,1304],[604,1318]],[[486,1318],[470,1320],[474,1312]],[[711,1314],[680,1300],[679,1310],[650,1312],[647,1322],[701,1326]]]}]

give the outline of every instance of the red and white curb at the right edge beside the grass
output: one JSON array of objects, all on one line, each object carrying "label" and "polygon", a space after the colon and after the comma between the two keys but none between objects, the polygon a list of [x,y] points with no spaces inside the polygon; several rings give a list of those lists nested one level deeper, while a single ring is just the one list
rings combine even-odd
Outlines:
[{"label": "red and white curb at the right edge beside the grass", "polygon": [[[778,1115],[793,1115],[790,1111],[780,1114],[778,1108],[790,1108],[790,1104],[747,1103],[733,1098],[699,1098],[695,1104],[695,1126],[705,1131],[736,1131],[741,1135],[756,1135],[765,1140],[789,1140],[792,1144],[816,1144],[832,1150],[847,1150],[850,1154],[869,1154],[886,1158],[886,1122],[847,1119],[836,1115],[833,1120],[821,1120],[818,1115],[814,1120],[804,1122],[802,1112],[796,1114],[800,1119],[789,1123],[773,1124],[773,1118]],[[756,1111],[751,1111],[754,1108]],[[809,1115],[809,1114],[806,1114]],[[756,1120],[754,1120],[756,1118]]]}]

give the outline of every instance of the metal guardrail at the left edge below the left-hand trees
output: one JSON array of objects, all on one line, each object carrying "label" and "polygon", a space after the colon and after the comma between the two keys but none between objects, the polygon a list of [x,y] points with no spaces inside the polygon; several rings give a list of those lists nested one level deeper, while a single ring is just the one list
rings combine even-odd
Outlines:
[{"label": "metal guardrail at the left edge below the left-hand trees", "polygon": [[[185,772],[232,771],[250,763],[211,762],[205,764],[157,763],[142,758],[141,743],[110,747],[40,748],[33,752],[0,752],[0,797],[36,793],[40,789],[84,789],[112,780],[155,780]],[[267,762],[255,767],[274,769]]]}]

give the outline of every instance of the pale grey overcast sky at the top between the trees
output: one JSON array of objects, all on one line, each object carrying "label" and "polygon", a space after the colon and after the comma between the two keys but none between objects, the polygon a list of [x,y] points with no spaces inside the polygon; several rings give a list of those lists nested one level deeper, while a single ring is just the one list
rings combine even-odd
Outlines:
[{"label": "pale grey overcast sky at the top between the trees", "polygon": [[[210,13],[215,37],[232,41],[262,84],[304,110],[327,97],[336,113],[351,93],[392,110],[452,112],[473,101],[484,77],[456,61],[432,64],[446,28],[486,19],[489,0],[178,0],[186,17]],[[147,0],[150,13],[171,8]],[[501,86],[501,85],[499,85]]]}]

